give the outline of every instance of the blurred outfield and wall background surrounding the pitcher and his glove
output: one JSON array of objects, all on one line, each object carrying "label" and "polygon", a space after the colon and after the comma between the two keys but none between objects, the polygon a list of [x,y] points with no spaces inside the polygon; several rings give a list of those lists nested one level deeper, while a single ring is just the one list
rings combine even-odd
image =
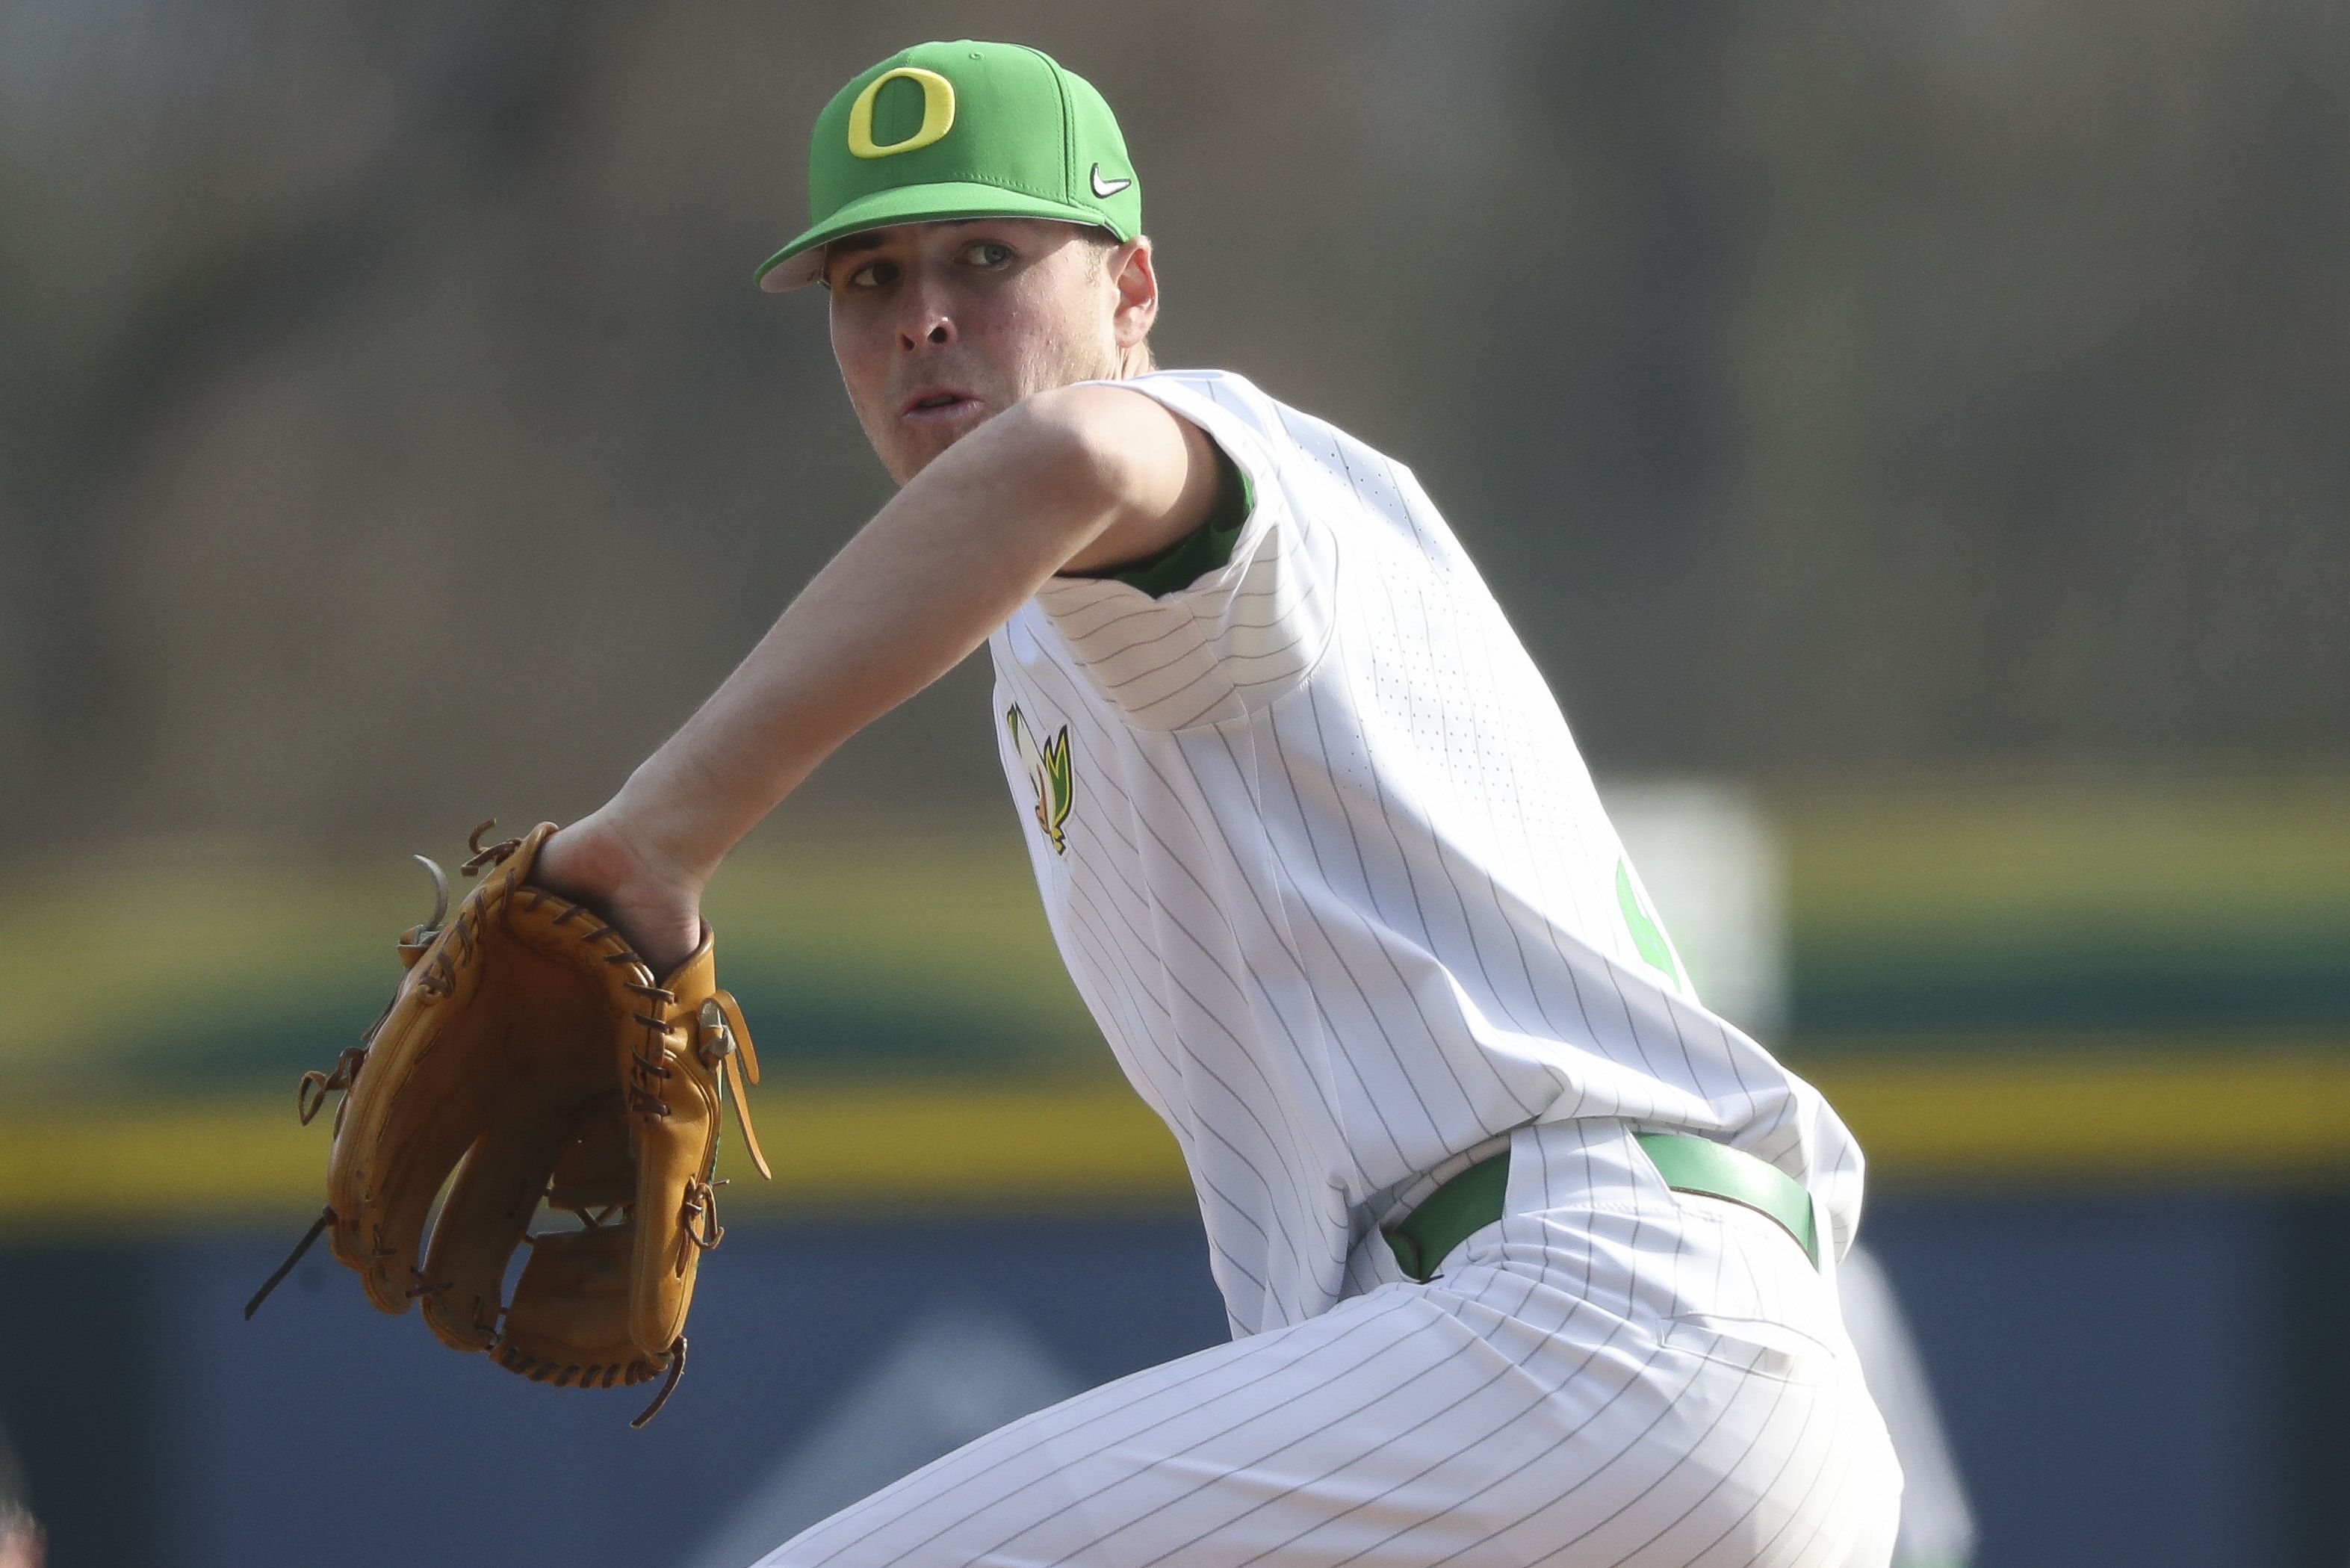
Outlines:
[{"label": "blurred outfield and wall background surrounding the pitcher and his glove", "polygon": [[1974,1561],[2350,1561],[2322,0],[0,0],[0,1512],[646,1563],[691,1495],[721,1568],[1222,1335],[985,661],[712,891],[780,1180],[649,1432],[324,1253],[237,1321],[407,853],[602,802],[884,501],[750,273],[832,89],[966,33],[1116,103],[1161,362],[1419,473],[1699,985],[1859,1131]]}]

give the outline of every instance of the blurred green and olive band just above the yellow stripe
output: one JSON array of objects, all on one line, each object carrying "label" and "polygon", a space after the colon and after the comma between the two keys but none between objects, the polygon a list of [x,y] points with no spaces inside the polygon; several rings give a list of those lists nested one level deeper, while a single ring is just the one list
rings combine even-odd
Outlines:
[{"label": "blurred green and olive band just above the yellow stripe", "polygon": [[[2350,1039],[2350,780],[1847,785],[1765,795],[1805,1067]],[[0,1110],[275,1093],[383,1006],[430,910],[407,849],[122,846],[0,877]],[[454,865],[458,835],[416,844]],[[463,886],[463,884],[458,884]],[[778,820],[710,891],[759,1048],[827,1072],[1109,1074],[1018,811]],[[70,1023],[61,1023],[68,1018]],[[73,1074],[56,1072],[70,1030]],[[2223,1044],[2216,1044],[2223,1041]]]}]

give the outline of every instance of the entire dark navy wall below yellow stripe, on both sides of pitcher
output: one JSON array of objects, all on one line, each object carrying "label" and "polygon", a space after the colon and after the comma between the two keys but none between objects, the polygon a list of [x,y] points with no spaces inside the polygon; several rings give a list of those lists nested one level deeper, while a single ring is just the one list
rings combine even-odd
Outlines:
[{"label": "entire dark navy wall below yellow stripe, on both sides of pitcher", "polygon": [[[1880,1194],[1868,1241],[1939,1382],[1979,1561],[2338,1568],[2350,1472],[2322,1434],[2350,1269],[2322,1265],[2345,1229],[2338,1201],[2270,1194]],[[0,1413],[56,1568],[642,1568],[677,1505],[721,1516],[926,1314],[987,1307],[1086,1382],[1224,1331],[1182,1220],[738,1225],[677,1399],[630,1432],[642,1392],[449,1354],[322,1253],[240,1321],[280,1246],[0,1248]],[[110,1340],[78,1342],[70,1302],[35,1324],[42,1281],[73,1281]]]}]

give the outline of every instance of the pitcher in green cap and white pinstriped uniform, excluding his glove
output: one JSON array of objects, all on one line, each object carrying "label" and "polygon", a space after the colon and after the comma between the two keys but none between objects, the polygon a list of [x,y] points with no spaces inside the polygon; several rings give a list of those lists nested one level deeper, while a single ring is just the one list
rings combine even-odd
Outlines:
[{"label": "pitcher in green cap and white pinstriped uniform, excluding his glove", "polygon": [[1053,936],[1234,1338],[764,1561],[1882,1566],[1861,1154],[1692,992],[1412,473],[1156,369],[1142,172],[1036,49],[860,73],[808,197],[759,277],[825,289],[898,494],[531,884],[665,973],[726,851],[987,644]]}]

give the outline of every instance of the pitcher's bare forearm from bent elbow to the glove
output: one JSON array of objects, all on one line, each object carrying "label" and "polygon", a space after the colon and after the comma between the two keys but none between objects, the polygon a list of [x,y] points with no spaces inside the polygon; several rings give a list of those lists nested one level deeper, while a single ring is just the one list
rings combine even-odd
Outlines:
[{"label": "pitcher's bare forearm from bent elbow to the glove", "polygon": [[606,809],[696,886],[848,736],[961,663],[1128,494],[1114,454],[1013,409],[916,475]]}]

